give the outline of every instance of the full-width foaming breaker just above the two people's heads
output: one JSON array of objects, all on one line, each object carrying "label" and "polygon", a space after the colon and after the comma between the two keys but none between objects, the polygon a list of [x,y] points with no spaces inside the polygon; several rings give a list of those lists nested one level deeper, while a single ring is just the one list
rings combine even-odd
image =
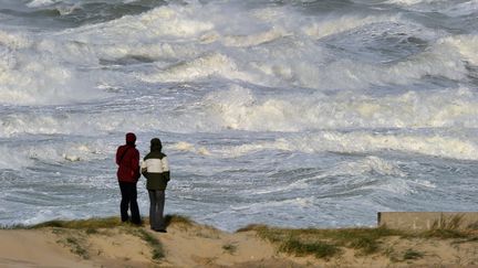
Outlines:
[{"label": "full-width foaming breaker just above the two people's heads", "polygon": [[[1,65],[0,65],[1,66]],[[126,100],[125,100],[126,101]],[[132,106],[148,99],[133,99]],[[139,103],[141,101],[141,103]],[[163,100],[157,100],[163,104]],[[478,97],[469,88],[418,90],[402,94],[367,95],[294,93],[261,95],[232,86],[183,104],[181,109],[157,106],[124,117],[122,104],[110,110],[85,106],[76,109],[45,109],[41,112],[4,114],[0,137],[31,135],[106,133],[131,126],[144,131],[172,132],[224,130],[302,132],[340,129],[477,128]],[[163,108],[162,108],[163,107]]]}]

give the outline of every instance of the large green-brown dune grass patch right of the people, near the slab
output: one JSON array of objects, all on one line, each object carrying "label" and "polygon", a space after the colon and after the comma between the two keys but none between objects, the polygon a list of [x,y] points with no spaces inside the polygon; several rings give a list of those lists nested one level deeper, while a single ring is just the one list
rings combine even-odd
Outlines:
[{"label": "large green-brown dune grass patch right of the people, near the slab", "polygon": [[[457,242],[476,242],[478,234],[459,229],[460,218],[454,217],[435,224],[432,229],[423,232],[405,232],[385,226],[371,228],[279,228],[267,225],[249,225],[237,232],[253,231],[257,235],[277,246],[282,253],[294,256],[315,256],[331,259],[350,248],[356,256],[383,255],[391,256],[389,248],[383,242],[387,238],[401,239],[454,239]],[[423,253],[408,248],[403,251],[399,260],[414,260],[424,256]]]}]

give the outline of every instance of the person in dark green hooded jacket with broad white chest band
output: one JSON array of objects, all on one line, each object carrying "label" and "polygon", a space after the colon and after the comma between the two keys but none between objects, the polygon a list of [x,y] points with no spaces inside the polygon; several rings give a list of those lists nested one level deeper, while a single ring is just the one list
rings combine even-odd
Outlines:
[{"label": "person in dark green hooded jacket with broad white chest band", "polygon": [[163,216],[165,205],[165,190],[169,181],[169,164],[158,138],[150,140],[150,152],[142,163],[142,173],[146,178],[146,189],[149,194],[149,224],[156,232],[166,233]]}]

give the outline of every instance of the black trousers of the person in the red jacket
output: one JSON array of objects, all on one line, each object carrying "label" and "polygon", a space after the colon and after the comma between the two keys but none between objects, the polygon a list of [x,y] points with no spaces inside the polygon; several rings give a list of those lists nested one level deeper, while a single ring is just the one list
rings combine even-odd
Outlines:
[{"label": "black trousers of the person in the red jacket", "polygon": [[141,224],[139,208],[137,205],[137,191],[136,183],[134,182],[119,182],[119,190],[122,192],[122,202],[119,205],[122,221],[128,221],[127,211],[131,208],[132,223]]}]

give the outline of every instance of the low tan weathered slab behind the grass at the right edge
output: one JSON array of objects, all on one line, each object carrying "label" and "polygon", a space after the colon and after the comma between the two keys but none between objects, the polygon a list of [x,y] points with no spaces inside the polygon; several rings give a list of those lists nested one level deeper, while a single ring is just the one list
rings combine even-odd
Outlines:
[{"label": "low tan weathered slab behind the grass at the right edge", "polygon": [[478,229],[478,212],[378,212],[378,226],[404,231]]}]

